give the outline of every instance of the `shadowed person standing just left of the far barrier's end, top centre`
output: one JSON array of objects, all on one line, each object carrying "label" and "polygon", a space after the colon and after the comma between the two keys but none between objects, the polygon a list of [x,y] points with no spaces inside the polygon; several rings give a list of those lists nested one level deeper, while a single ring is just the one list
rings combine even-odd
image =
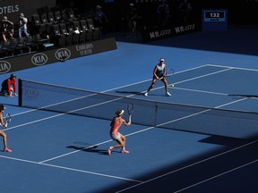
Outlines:
[{"label": "shadowed person standing just left of the far barrier's end, top centre", "polygon": [[136,37],[137,32],[138,13],[133,4],[129,4],[129,9],[126,13],[126,20],[128,21],[129,38]]}]

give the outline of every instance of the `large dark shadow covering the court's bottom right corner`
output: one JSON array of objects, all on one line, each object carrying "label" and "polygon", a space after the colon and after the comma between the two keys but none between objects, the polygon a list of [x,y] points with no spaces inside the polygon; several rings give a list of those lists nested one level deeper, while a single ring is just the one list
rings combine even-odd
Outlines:
[{"label": "large dark shadow covering the court's bottom right corner", "polygon": [[[250,180],[245,177],[244,180],[240,180],[237,178],[227,178],[227,175],[225,177],[223,174],[228,172],[233,172],[234,174],[234,171],[239,166],[241,167],[241,165],[257,160],[258,155],[256,154],[249,154],[243,157],[246,152],[253,151],[258,147],[258,143],[255,142],[255,140],[211,136],[202,139],[202,142],[219,144],[225,147],[213,152],[208,152],[204,155],[192,157],[191,159],[178,164],[170,164],[162,169],[146,173],[142,176],[136,176],[134,179],[137,178],[137,180],[142,181],[138,184],[132,184],[132,182],[120,183],[117,186],[109,187],[105,190],[103,189],[103,191],[98,191],[98,193],[150,192],[150,189],[151,192],[159,192],[160,188],[162,188],[162,192],[166,193],[244,192],[244,190],[248,191],[248,189],[254,189],[254,187],[251,188],[243,186],[243,183],[253,183],[255,181],[254,178],[253,180]],[[248,146],[249,143],[254,143],[254,146]],[[242,174],[243,176],[249,176],[248,171],[244,171]],[[224,178],[217,179],[220,175]],[[211,183],[213,184],[212,189]],[[234,184],[234,186],[227,186],[227,183]]]}]

